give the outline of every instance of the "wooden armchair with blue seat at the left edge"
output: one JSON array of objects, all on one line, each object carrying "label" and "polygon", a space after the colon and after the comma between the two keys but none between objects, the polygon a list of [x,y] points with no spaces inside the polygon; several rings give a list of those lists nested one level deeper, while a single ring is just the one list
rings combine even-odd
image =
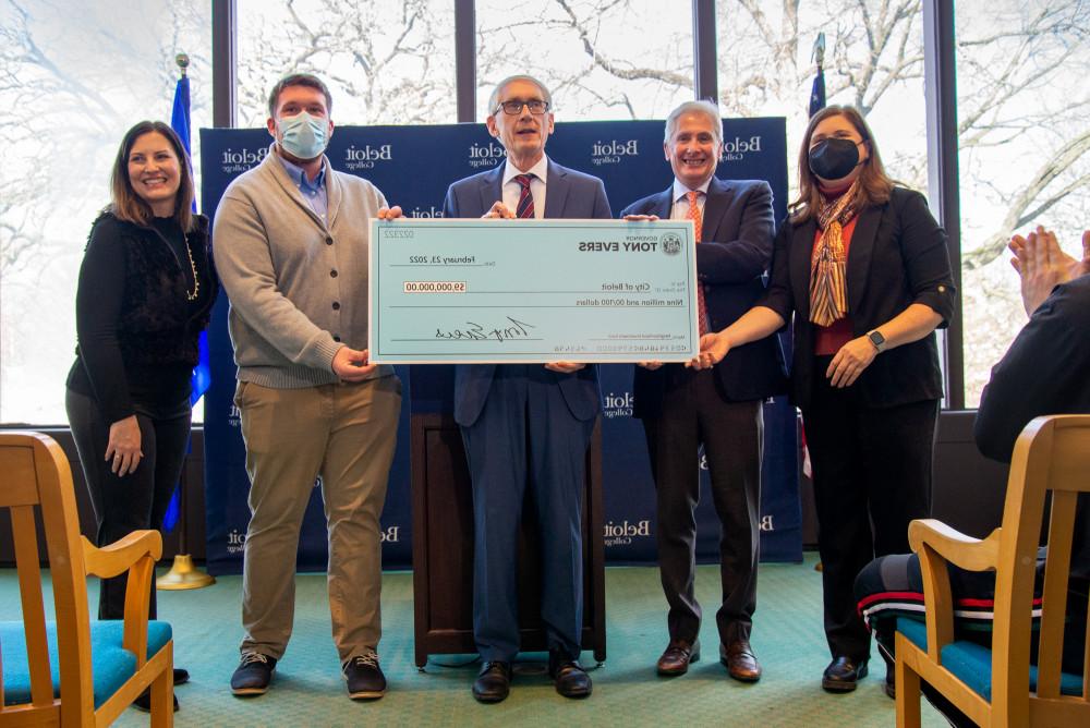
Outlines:
[{"label": "wooden armchair with blue seat at the left edge", "polygon": [[[173,724],[170,624],[147,619],[162,553],[156,531],[95,548],[80,535],[72,471],[60,446],[36,433],[0,433],[0,507],[11,514],[22,621],[0,623],[0,727],[105,726],[150,687],[152,725]],[[37,507],[37,508],[36,508]],[[40,511],[52,578],[46,620],[35,523]],[[129,571],[124,620],[92,620],[87,574]]]}]

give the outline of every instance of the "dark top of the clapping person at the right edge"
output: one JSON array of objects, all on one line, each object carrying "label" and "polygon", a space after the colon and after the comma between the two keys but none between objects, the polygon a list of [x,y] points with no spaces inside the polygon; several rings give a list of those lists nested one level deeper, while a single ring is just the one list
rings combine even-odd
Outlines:
[{"label": "dark top of the clapping person at the right edge", "polygon": [[[1010,462],[1033,417],[1090,414],[1090,275],[1057,286],[992,367],[973,434],[986,457]],[[1090,498],[1079,496],[1071,573],[1090,579]]]}]

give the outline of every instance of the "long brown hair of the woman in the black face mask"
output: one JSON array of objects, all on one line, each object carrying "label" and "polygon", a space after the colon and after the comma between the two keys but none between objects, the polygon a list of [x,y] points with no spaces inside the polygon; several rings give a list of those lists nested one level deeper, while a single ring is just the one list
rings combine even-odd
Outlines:
[{"label": "long brown hair of the woman in the black face mask", "polygon": [[889,199],[889,191],[893,190],[894,181],[886,174],[885,166],[882,163],[882,155],[879,154],[874,135],[871,134],[871,129],[867,125],[863,114],[853,106],[826,106],[811,117],[807,132],[802,135],[802,148],[799,149],[799,197],[790,204],[792,225],[806,222],[821,210],[822,194],[818,187],[818,175],[810,171],[810,138],[818,124],[829,117],[847,119],[848,123],[856,128],[870,151],[863,162],[862,170],[859,172],[859,185],[852,206],[857,210],[862,210],[864,207],[883,205]]}]

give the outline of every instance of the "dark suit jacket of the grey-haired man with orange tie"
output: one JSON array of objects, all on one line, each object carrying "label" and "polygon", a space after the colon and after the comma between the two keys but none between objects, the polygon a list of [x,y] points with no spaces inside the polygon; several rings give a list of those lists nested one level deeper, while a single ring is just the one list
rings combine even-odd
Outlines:
[{"label": "dark suit jacket of the grey-haired man with orange tie", "polygon": [[[629,205],[625,215],[657,215],[669,219],[674,187]],[[712,331],[735,323],[764,293],[762,276],[772,260],[772,189],[761,180],[725,181],[712,178],[704,201],[697,245],[697,278],[704,287],[704,307]],[[731,351],[715,366],[723,396],[735,402],[765,399],[787,390],[784,353],[777,337]],[[666,372],[635,367],[633,393],[637,417],[662,413]]]}]

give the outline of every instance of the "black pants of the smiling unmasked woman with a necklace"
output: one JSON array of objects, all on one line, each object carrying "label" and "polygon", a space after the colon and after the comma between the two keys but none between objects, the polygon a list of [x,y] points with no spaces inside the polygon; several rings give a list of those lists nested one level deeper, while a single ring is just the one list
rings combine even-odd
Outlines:
[{"label": "black pants of the smiling unmasked woman with a necklace", "polygon": [[[111,423],[106,422],[94,399],[68,390],[64,407],[95,508],[98,546],[111,544],[140,529],[162,527],[162,519],[185,460],[192,417],[189,404],[185,400],[177,407],[154,412],[152,408],[143,408],[152,414],[137,411],[144,458],[134,473],[119,477],[110,472],[110,463],[106,461]],[[99,619],[124,617],[128,581],[128,574],[101,581]],[[153,580],[149,617],[155,619],[155,616]]]}]

